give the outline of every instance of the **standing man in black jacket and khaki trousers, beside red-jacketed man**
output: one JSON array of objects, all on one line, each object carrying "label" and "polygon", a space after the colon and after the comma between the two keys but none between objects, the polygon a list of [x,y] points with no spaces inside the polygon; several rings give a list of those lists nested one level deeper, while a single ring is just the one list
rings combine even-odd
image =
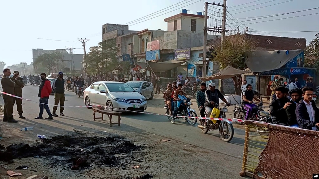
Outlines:
[{"label": "standing man in black jacket and khaki trousers, beside red-jacketed man", "polygon": [[52,116],[58,117],[56,114],[56,110],[58,108],[58,105],[60,103],[60,116],[64,116],[63,110],[64,110],[64,101],[65,101],[65,95],[64,95],[64,79],[63,79],[63,72],[59,72],[59,77],[56,78],[52,85],[52,90],[54,91],[54,106],[53,106],[53,112]]}]

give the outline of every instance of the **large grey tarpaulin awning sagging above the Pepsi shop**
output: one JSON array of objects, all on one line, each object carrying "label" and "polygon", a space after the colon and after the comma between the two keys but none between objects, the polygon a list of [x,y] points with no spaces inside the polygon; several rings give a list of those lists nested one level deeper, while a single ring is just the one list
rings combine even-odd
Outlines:
[{"label": "large grey tarpaulin awning sagging above the Pepsi shop", "polygon": [[289,60],[296,57],[303,50],[278,50],[275,51],[253,51],[246,56],[246,65],[252,72],[264,72],[281,68]]}]

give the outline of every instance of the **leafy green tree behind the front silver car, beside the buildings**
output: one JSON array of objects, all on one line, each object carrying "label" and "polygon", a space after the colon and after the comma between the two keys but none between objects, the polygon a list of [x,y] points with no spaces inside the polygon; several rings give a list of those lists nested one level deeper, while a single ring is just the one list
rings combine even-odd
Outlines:
[{"label": "leafy green tree behind the front silver car, beside the buildings", "polygon": [[98,46],[91,47],[84,59],[86,73],[97,75],[114,70],[119,64],[118,52],[118,47],[115,47],[113,43],[100,42]]}]

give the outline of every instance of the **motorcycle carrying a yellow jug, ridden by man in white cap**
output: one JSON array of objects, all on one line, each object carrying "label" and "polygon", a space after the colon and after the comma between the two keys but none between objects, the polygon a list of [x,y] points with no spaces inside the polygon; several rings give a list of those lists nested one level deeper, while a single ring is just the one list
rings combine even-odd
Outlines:
[{"label": "motorcycle carrying a yellow jug, ridden by man in white cap", "polygon": [[[220,108],[218,105],[216,105],[216,107],[220,111],[220,118],[226,118],[226,112],[228,111],[226,106],[227,104],[223,108]],[[204,120],[207,120],[207,127],[204,126]],[[199,121],[200,125],[197,125],[197,127],[199,127],[201,132],[203,133],[207,133],[208,131],[218,129],[221,140],[225,142],[231,141],[234,137],[233,124],[228,120],[222,121],[213,119],[200,119]]]}]

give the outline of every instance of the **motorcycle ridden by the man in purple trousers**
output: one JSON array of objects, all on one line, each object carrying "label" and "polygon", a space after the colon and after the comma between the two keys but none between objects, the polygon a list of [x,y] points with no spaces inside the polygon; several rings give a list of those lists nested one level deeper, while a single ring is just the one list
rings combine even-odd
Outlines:
[{"label": "motorcycle ridden by the man in purple trousers", "polygon": [[[254,102],[253,104],[256,104],[256,103]],[[265,106],[263,106],[262,102],[260,102],[259,104],[256,104],[256,106],[253,107],[249,120],[268,122],[270,120],[270,114],[269,112],[263,111],[264,109],[265,109]],[[242,104],[235,104],[234,118],[243,120],[246,116],[246,113],[247,113],[247,110],[244,109]],[[243,122],[238,122],[238,123],[243,124]]]}]

